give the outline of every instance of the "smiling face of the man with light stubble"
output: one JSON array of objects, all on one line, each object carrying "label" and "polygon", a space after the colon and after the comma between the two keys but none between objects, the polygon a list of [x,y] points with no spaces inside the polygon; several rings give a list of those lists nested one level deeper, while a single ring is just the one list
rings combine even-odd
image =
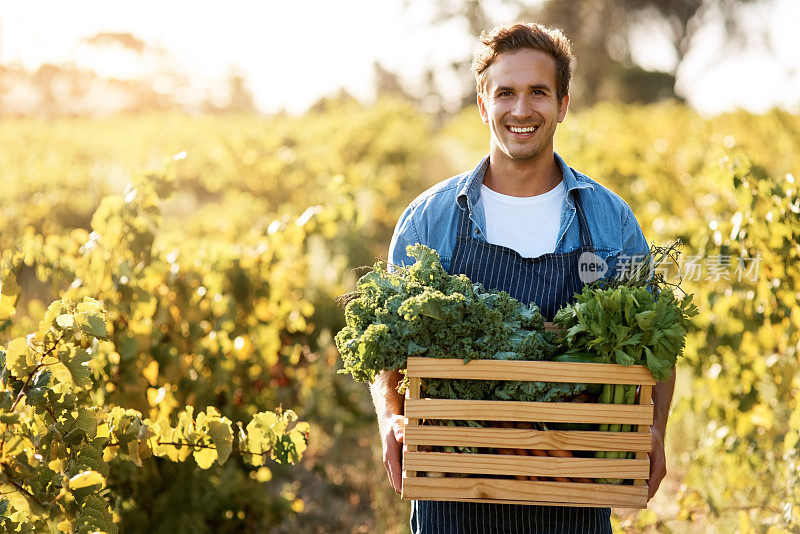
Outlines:
[{"label": "smiling face of the man with light stubble", "polygon": [[494,158],[533,160],[553,148],[556,125],[567,115],[569,96],[556,96],[556,63],[533,49],[505,52],[487,69],[478,109],[491,131]]}]

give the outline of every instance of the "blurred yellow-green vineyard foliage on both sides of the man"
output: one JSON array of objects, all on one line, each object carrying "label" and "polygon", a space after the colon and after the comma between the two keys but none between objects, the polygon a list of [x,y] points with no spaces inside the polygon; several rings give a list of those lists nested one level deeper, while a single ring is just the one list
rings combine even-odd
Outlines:
[{"label": "blurred yellow-green vineyard foliage on both sides of the man", "polygon": [[[2,123],[6,351],[38,331],[50,302],[91,297],[108,328],[89,365],[98,410],[177,425],[187,406],[196,417],[213,408],[246,426],[283,406],[310,423],[295,466],[232,454],[205,470],[162,458],[138,467],[116,455],[100,474],[120,526],[405,531],[369,395],[335,374],[334,299],[354,268],[385,256],[414,196],[485,154],[478,114],[434,131],[397,101],[340,99],[301,117]],[[559,154],[619,193],[649,241],[680,237],[683,257],[703,260],[702,271],[683,265],[701,314],[679,366],[670,475],[649,510],[618,511],[622,530],[800,528],[797,146],[800,117],[704,118],[673,103],[599,105],[558,130]],[[158,172],[128,185],[148,168]]]}]

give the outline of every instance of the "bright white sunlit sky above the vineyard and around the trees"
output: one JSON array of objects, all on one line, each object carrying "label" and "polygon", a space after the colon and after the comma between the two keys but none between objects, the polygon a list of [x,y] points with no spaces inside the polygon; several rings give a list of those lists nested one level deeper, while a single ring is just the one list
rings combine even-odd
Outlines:
[{"label": "bright white sunlit sky above the vineyard and around the trees", "polygon": [[[473,40],[465,27],[430,25],[428,6],[425,0],[0,1],[0,63],[36,69],[70,62],[120,78],[152,72],[153,61],[103,55],[81,43],[99,32],[130,32],[163,49],[161,64],[192,77],[198,87],[236,69],[261,110],[302,112],[342,86],[369,99],[376,60],[413,90],[426,67],[469,56]],[[508,16],[495,7],[497,21]],[[720,59],[721,29],[709,28],[682,66],[679,88],[707,113],[800,110],[800,1],[775,0],[769,10],[752,10],[748,20],[769,28],[772,50],[727,52]],[[635,57],[645,67],[673,61],[657,35],[648,29],[634,36]],[[444,79],[445,94],[452,83]]]}]

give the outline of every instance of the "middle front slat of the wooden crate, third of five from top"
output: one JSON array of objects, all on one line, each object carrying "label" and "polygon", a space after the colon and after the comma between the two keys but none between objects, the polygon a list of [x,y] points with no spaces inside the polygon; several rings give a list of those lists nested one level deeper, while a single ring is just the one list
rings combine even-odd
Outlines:
[{"label": "middle front slat of the wooden crate, third of five from top", "polygon": [[[648,427],[649,428],[649,427]],[[526,430],[408,425],[405,441],[414,445],[496,447],[507,449],[561,449],[567,451],[641,451],[647,458],[649,432],[589,430]]]}]

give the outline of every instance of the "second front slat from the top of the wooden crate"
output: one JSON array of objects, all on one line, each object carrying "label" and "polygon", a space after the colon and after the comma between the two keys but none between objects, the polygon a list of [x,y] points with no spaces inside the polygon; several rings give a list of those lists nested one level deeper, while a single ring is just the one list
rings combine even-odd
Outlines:
[{"label": "second front slat from the top of the wooden crate", "polygon": [[405,415],[414,419],[649,425],[653,421],[653,407],[635,404],[409,398],[406,399]]}]

